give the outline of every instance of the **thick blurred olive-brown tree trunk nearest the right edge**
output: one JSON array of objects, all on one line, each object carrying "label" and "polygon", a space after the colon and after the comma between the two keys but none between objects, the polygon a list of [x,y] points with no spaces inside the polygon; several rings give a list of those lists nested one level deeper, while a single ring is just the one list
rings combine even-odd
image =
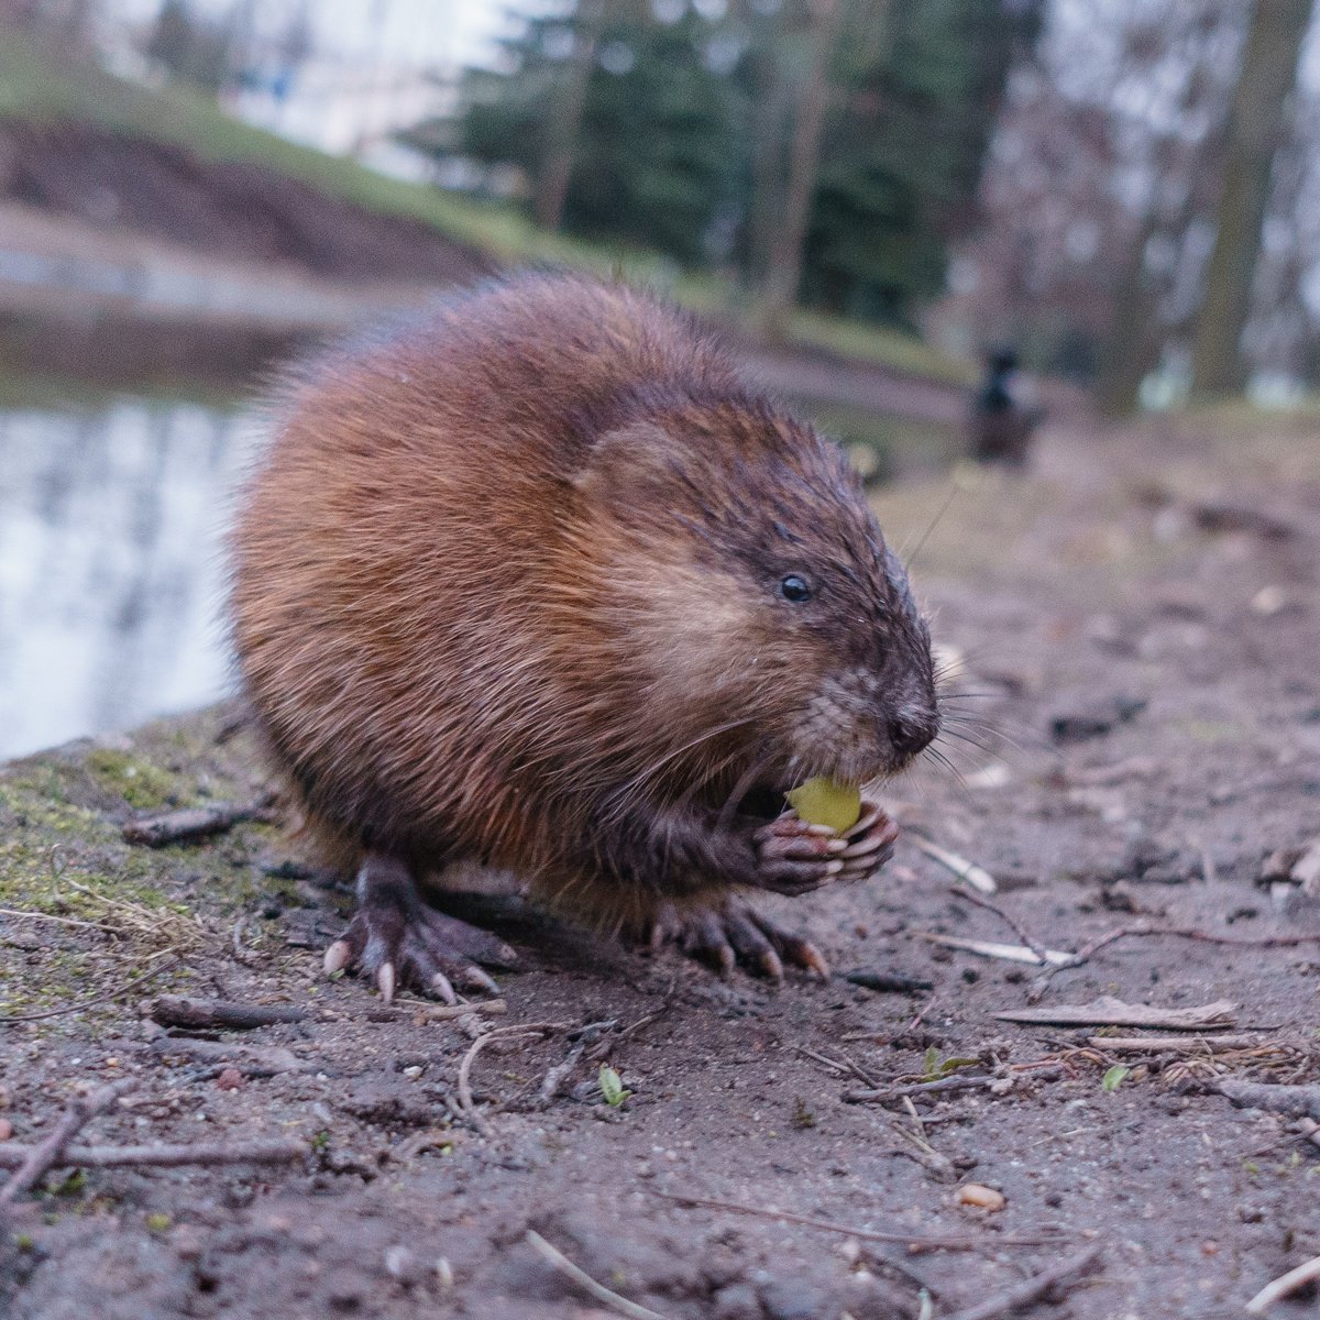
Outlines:
[{"label": "thick blurred olive-brown tree trunk nearest the right edge", "polygon": [[1270,202],[1270,174],[1296,83],[1311,0],[1257,0],[1247,28],[1229,123],[1214,251],[1192,348],[1192,391],[1234,393],[1243,385],[1242,330]]}]

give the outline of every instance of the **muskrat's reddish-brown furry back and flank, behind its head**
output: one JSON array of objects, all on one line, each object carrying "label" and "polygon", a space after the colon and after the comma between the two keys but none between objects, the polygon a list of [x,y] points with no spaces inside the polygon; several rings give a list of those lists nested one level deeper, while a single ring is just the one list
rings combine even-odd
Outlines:
[{"label": "muskrat's reddish-brown furry back and flank, behind its head", "polygon": [[[459,297],[288,384],[234,535],[234,630],[314,832],[437,862],[500,834],[536,851],[504,754],[535,719],[554,762],[570,722],[566,639],[539,619],[585,568],[556,550],[583,446],[639,392],[735,385],[677,310],[564,276]],[[486,837],[454,840],[474,814]]]}]

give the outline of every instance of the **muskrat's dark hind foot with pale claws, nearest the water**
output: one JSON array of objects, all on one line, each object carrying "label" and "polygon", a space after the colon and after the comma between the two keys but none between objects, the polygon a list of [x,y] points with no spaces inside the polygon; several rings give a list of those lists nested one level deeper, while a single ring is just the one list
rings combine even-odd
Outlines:
[{"label": "muskrat's dark hind foot with pale claws, nearest the water", "polygon": [[478,962],[510,968],[517,954],[500,939],[437,912],[401,862],[370,854],[358,871],[358,911],[326,949],[327,975],[358,968],[388,1003],[400,985],[457,1002],[454,983],[498,993]]}]

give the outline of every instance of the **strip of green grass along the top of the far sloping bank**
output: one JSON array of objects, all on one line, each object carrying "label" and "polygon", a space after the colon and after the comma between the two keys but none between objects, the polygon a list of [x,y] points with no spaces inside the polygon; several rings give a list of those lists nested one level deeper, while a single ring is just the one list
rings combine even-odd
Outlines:
[{"label": "strip of green grass along the top of the far sloping bank", "polygon": [[[203,160],[251,161],[381,215],[429,224],[496,261],[565,263],[665,289],[697,312],[730,314],[738,298],[729,281],[680,273],[665,257],[628,246],[587,243],[537,228],[513,206],[482,202],[421,183],[388,178],[355,161],[327,156],[224,114],[182,86],[149,88],[86,65],[71,65],[30,38],[0,29],[0,120],[87,121],[129,137],[186,148]],[[788,331],[803,347],[822,348],[896,371],[968,384],[973,368],[896,330],[799,312]]]}]

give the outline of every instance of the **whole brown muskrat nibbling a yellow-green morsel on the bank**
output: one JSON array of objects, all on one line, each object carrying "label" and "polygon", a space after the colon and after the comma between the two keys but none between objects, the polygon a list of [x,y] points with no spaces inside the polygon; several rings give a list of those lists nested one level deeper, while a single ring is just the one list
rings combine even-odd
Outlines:
[{"label": "whole brown muskrat nibbling a yellow-green morsel on the bank", "polygon": [[747,907],[876,870],[784,809],[936,735],[925,619],[841,451],[686,314],[513,277],[290,379],[232,541],[242,682],[310,832],[356,870],[326,953],[389,998],[512,950],[422,900],[455,862],[779,977]]}]

